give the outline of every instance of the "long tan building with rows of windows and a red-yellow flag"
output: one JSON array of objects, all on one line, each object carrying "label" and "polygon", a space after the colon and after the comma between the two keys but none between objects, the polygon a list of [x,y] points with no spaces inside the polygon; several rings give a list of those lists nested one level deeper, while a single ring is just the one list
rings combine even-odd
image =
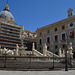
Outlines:
[{"label": "long tan building with rows of windows and a red-yellow flag", "polygon": [[42,52],[43,45],[47,45],[47,50],[59,54],[59,49],[65,50],[67,45],[72,42],[73,53],[75,55],[75,15],[73,9],[67,11],[68,18],[49,24],[42,28],[37,28],[37,48]]}]

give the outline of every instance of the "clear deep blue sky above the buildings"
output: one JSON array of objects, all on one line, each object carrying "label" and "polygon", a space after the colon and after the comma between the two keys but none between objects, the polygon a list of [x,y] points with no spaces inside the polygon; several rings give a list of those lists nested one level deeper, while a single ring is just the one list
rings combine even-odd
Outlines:
[{"label": "clear deep blue sky above the buildings", "polygon": [[[0,12],[6,1],[0,0]],[[31,31],[67,18],[69,8],[75,12],[75,0],[8,0],[8,4],[16,24]]]}]

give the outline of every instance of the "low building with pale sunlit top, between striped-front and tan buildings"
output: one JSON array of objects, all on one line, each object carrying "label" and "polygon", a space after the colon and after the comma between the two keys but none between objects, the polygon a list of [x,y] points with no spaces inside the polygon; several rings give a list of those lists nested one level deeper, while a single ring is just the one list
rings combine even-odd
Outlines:
[{"label": "low building with pale sunlit top, between striped-front and tan buildings", "polygon": [[29,30],[26,30],[24,29],[23,30],[23,36],[24,36],[24,42],[23,44],[27,46],[27,51],[31,51],[32,50],[32,44],[33,42],[35,43],[35,48],[36,48],[36,32],[33,32],[33,31],[29,31]]}]

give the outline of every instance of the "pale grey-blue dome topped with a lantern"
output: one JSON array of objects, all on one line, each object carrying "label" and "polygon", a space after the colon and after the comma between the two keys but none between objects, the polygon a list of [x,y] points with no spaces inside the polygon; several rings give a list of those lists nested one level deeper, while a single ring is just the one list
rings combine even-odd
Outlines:
[{"label": "pale grey-blue dome topped with a lantern", "polygon": [[8,4],[4,6],[4,10],[0,13],[0,18],[8,18],[8,19],[14,20],[13,15],[9,11]]}]

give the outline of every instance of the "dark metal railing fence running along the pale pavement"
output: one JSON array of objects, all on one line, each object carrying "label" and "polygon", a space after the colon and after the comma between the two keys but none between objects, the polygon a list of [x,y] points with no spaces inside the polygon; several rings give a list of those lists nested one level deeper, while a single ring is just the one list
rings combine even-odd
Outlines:
[{"label": "dark metal railing fence running along the pale pavement", "polygon": [[[71,59],[68,59],[71,60]],[[68,68],[75,68],[68,61]],[[65,58],[63,57],[24,57],[24,56],[0,56],[0,68],[11,69],[65,69]]]}]

